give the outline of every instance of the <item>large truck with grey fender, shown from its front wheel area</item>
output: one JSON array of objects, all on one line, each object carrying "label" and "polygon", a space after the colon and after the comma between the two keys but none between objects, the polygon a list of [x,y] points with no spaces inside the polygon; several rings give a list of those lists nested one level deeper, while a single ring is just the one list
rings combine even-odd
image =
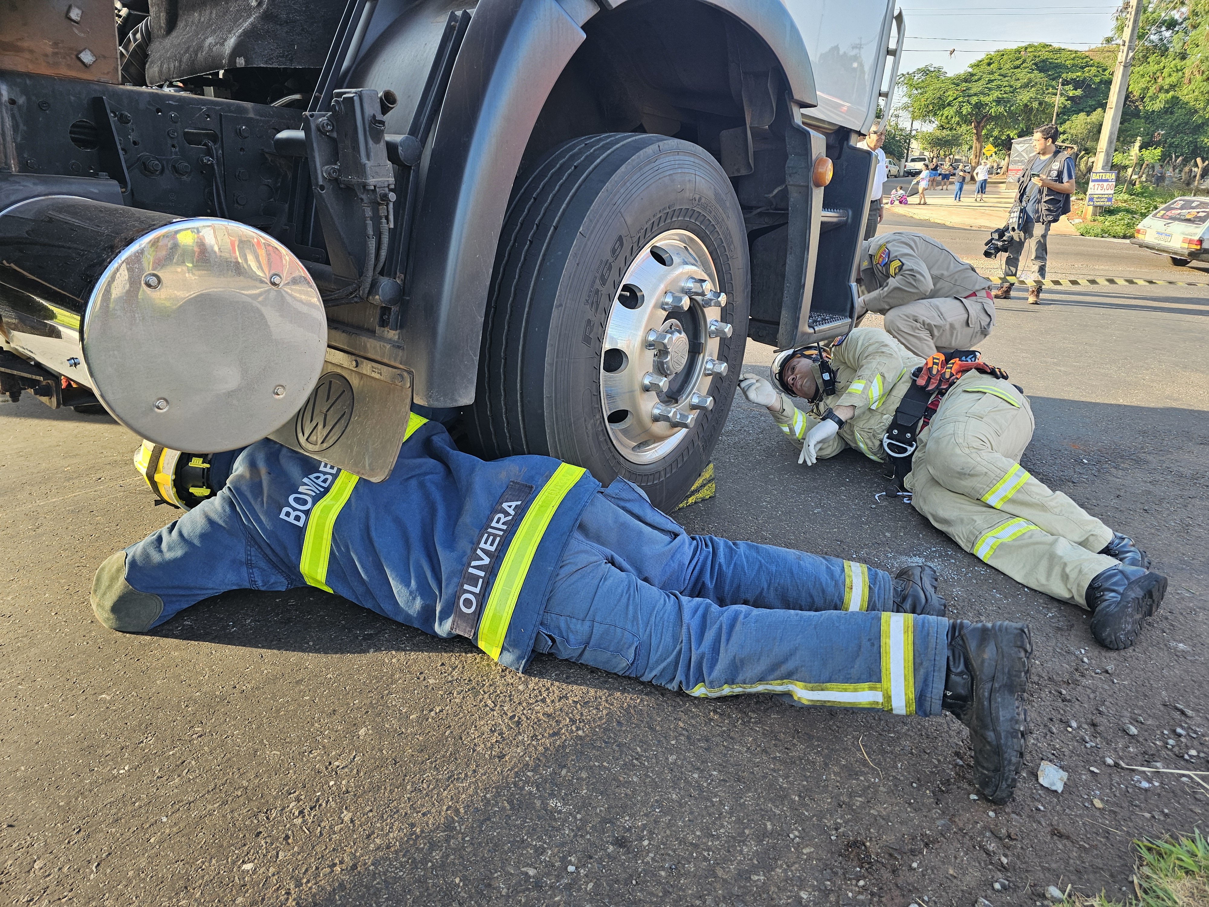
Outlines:
[{"label": "large truck with grey fender, shown from its front wheel area", "polygon": [[710,462],[747,340],[850,329],[891,0],[0,11],[0,393],[384,479]]}]

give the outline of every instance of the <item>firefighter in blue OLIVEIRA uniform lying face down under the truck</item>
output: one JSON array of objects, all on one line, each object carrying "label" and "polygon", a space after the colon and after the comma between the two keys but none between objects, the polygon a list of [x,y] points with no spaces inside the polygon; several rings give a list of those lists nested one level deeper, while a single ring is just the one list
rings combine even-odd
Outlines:
[{"label": "firefighter in blue OLIVEIRA uniform lying face down under the truck", "polygon": [[1012,796],[1028,626],[944,619],[931,567],[891,577],[688,536],[621,479],[484,462],[416,415],[380,484],[272,440],[213,457],[145,443],[135,462],[161,497],[196,507],[97,571],[110,629],[151,630],[229,589],[310,584],[516,671],[542,652],[701,698],[943,709],[971,730],[979,790]]}]

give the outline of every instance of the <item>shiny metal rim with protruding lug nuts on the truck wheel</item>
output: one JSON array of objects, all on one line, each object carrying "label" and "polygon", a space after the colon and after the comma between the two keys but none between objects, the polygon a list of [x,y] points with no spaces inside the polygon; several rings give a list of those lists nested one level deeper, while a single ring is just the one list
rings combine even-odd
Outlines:
[{"label": "shiny metal rim with protruding lug nuts on the truck wheel", "polygon": [[713,409],[711,389],[727,374],[719,341],[733,330],[725,305],[710,253],[683,230],[647,243],[623,276],[604,329],[601,408],[631,463],[663,460]]}]

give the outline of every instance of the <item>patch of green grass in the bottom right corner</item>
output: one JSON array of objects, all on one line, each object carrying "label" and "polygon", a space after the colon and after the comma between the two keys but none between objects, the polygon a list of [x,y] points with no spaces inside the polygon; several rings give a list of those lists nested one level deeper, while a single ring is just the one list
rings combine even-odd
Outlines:
[{"label": "patch of green grass in the bottom right corner", "polygon": [[1191,837],[1135,840],[1138,866],[1134,895],[1110,901],[1075,895],[1068,907],[1204,907],[1209,905],[1209,839],[1196,828]]}]

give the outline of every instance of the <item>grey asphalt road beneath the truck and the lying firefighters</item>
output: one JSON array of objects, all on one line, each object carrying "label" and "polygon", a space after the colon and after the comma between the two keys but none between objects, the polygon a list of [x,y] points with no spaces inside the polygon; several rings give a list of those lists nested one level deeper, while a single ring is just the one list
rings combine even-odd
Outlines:
[{"label": "grey asphalt road beneath the truck and the lying firefighters", "polygon": [[[982,262],[980,233],[891,214],[895,227]],[[1209,279],[1081,237],[1054,238],[1052,260],[1055,273]],[[1209,811],[1179,775],[1105,764],[1209,751],[1209,293],[1043,301],[1003,304],[985,358],[1031,397],[1025,467],[1170,577],[1133,649],[1097,647],[1080,610],[877,497],[887,483],[860,456],[798,467],[741,399],[718,496],[678,513],[694,532],[887,570],[926,560],[953,616],[1026,620],[1029,776],[995,810],[970,797],[966,732],[949,717],[701,701],[545,657],[519,676],[311,589],[231,593],[146,636],[106,631],[87,603],[93,570],[174,514],[151,506],[137,440],[108,417],[29,395],[0,406],[4,900],[1003,907],[1049,884],[1120,897],[1132,838],[1204,828]],[[769,352],[751,345],[750,363]],[[1063,793],[1037,785],[1042,758],[1069,773]]]}]

